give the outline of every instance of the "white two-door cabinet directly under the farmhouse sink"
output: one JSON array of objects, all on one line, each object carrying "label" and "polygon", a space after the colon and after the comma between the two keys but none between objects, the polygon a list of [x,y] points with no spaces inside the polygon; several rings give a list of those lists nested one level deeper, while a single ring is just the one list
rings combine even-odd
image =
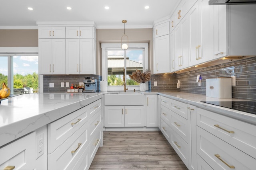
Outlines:
[{"label": "white two-door cabinet directly under the farmhouse sink", "polygon": [[144,106],[105,106],[105,127],[144,126]]}]

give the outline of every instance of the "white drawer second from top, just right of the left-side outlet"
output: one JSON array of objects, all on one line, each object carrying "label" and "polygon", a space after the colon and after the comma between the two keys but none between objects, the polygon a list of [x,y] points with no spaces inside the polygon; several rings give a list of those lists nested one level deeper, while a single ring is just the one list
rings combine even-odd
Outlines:
[{"label": "white drawer second from top, just right of the left-side outlet", "polygon": [[[78,131],[71,135],[54,152],[48,154],[48,169],[66,170],[69,164],[78,161],[80,152],[84,152],[89,145],[89,123],[85,123]],[[74,161],[74,162],[73,162]]]}]

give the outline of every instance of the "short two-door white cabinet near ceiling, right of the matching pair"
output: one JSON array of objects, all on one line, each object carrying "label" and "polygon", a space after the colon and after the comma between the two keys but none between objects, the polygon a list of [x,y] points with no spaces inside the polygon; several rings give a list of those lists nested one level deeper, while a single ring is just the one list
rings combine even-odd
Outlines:
[{"label": "short two-door white cabinet near ceiling, right of the matching pair", "polygon": [[93,27],[66,27],[66,38],[93,38]]}]

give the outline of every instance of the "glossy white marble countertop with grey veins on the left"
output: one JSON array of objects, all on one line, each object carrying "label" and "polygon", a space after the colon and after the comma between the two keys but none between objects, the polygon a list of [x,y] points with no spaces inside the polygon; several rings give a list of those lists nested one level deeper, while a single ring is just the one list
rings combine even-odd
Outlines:
[{"label": "glossy white marble countertop with grey veins on the left", "polygon": [[101,93],[44,93],[2,100],[0,147],[100,98]]}]

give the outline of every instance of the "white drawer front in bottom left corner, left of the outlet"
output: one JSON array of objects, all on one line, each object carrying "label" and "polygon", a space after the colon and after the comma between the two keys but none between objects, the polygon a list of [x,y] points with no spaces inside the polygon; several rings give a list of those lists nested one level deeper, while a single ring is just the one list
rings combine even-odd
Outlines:
[{"label": "white drawer front in bottom left corner, left of the outlet", "polygon": [[15,170],[35,168],[36,133],[30,133],[20,139],[0,148],[0,169],[15,166]]}]

